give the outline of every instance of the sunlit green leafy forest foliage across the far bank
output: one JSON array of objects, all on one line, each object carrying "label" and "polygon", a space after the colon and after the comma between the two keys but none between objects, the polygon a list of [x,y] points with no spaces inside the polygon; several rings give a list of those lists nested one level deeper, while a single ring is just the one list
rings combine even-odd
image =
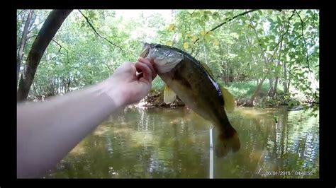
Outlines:
[{"label": "sunlit green leafy forest foliage across the far bank", "polygon": [[[102,81],[124,61],[136,61],[142,42],[155,42],[206,62],[225,86],[241,84],[239,98],[252,95],[257,83],[267,78],[272,82],[263,84],[262,93],[273,88],[301,102],[319,102],[318,10],[258,10],[237,18],[245,10],[174,10],[168,16],[143,11],[135,17],[112,10],[81,11],[100,35],[123,50],[98,37],[82,14],[73,11],[47,47],[30,97],[59,95]],[[17,44],[27,12],[17,11]],[[21,69],[48,13],[34,10]],[[254,84],[250,93],[239,92],[247,90],[245,83]],[[155,79],[153,89],[163,86]],[[282,94],[267,95],[270,101]]]}]

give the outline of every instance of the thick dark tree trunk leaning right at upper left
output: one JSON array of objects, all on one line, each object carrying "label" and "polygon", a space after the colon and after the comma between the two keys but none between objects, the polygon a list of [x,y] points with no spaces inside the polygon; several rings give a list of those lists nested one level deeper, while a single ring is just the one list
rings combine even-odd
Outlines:
[{"label": "thick dark tree trunk leaning right at upper left", "polygon": [[49,45],[52,37],[55,36],[57,30],[60,28],[65,18],[69,16],[71,10],[53,10],[43,23],[38,36],[35,38],[33,45],[28,54],[28,60],[26,64],[26,69],[21,74],[20,83],[18,86],[17,100],[22,101],[26,100],[30,86],[33,83],[36,69],[38,69],[38,64],[40,59]]}]

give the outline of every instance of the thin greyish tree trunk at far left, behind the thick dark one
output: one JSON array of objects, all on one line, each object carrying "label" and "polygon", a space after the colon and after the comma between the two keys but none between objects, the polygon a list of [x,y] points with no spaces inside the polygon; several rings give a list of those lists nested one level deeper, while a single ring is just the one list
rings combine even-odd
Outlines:
[{"label": "thin greyish tree trunk at far left, behind the thick dark one", "polygon": [[18,86],[18,74],[20,72],[21,61],[23,58],[23,49],[25,48],[27,42],[28,27],[30,24],[32,14],[33,10],[30,10],[27,16],[25,27],[23,28],[21,42],[18,49],[18,57],[16,57],[16,86]]}]

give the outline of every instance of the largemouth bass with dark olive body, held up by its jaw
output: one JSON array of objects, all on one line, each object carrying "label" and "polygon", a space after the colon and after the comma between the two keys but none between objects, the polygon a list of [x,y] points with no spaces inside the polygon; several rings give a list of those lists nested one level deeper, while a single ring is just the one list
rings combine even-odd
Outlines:
[{"label": "largemouth bass with dark olive body, held up by its jaw", "polygon": [[218,157],[240,149],[237,131],[231,126],[227,112],[235,100],[220,86],[205,64],[190,54],[166,45],[145,43],[140,57],[154,60],[157,74],[166,83],[164,102],[173,102],[176,95],[196,114],[211,122],[218,130],[215,154]]}]

